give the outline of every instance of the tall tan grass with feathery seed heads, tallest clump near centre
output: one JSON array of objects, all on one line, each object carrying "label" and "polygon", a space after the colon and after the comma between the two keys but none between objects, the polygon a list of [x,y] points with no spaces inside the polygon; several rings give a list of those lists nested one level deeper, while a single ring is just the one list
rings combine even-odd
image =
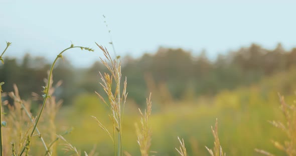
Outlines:
[{"label": "tall tan grass with feathery seed heads, tallest clump near centre", "polygon": [[[96,43],[97,44],[97,43]],[[122,114],[124,110],[124,104],[126,101],[127,93],[126,93],[126,77],[123,82],[123,89],[122,95],[120,94],[120,80],[121,80],[121,62],[118,61],[118,57],[116,59],[112,59],[108,50],[103,46],[97,44],[97,46],[103,51],[105,59],[101,58],[101,62],[107,67],[110,73],[104,73],[103,75],[99,72],[101,76],[102,83],[101,86],[103,87],[104,91],[108,96],[109,104],[104,100],[104,98],[96,92],[99,98],[109,107],[110,109],[110,120],[113,125],[113,143],[114,143],[114,154],[116,155],[116,143],[115,143],[115,133],[118,132],[118,144],[117,144],[117,155],[123,155],[122,150]],[[113,80],[115,81],[115,90],[112,91],[112,83]],[[102,127],[101,127],[102,128]],[[102,128],[104,129],[104,128]],[[107,130],[104,129],[108,133]],[[108,134],[109,135],[109,134]]]}]

